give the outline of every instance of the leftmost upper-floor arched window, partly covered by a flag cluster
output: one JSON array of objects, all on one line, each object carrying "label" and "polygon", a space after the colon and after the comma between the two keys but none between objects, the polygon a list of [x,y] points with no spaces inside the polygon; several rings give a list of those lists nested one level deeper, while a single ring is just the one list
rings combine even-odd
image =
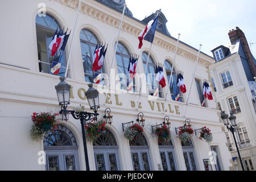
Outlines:
[{"label": "leftmost upper-floor arched window, partly covered by a flag cluster", "polygon": [[43,73],[51,73],[52,61],[57,57],[60,57],[60,73],[58,76],[65,76],[66,63],[65,63],[65,52],[59,51],[55,57],[51,56],[51,50],[49,44],[56,30],[60,30],[60,24],[57,20],[46,14],[46,16],[36,16],[36,40],[38,44],[38,60],[39,60],[39,71]]}]

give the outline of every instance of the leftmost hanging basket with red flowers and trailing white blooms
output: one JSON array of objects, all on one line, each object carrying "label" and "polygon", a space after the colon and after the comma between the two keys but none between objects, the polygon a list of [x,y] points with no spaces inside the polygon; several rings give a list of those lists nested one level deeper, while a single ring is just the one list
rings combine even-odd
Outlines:
[{"label": "leftmost hanging basket with red flowers and trailing white blooms", "polygon": [[30,130],[30,135],[32,140],[40,141],[43,139],[44,134],[46,134],[49,130],[56,130],[59,122],[56,120],[56,116],[59,115],[57,113],[33,113],[31,115],[31,119],[33,122],[32,128]]}]

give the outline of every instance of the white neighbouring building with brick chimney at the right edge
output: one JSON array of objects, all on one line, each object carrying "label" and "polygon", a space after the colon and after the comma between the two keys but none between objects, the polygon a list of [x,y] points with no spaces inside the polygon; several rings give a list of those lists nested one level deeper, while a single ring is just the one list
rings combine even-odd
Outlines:
[{"label": "white neighbouring building with brick chimney at the right edge", "polygon": [[[212,50],[214,59],[210,75],[214,83],[217,104],[225,113],[232,111],[240,128],[236,140],[246,170],[255,170],[255,59],[251,55],[245,34],[240,28],[229,32],[231,44]],[[229,150],[232,154],[233,169],[241,170],[237,149],[232,133],[225,131]]]}]

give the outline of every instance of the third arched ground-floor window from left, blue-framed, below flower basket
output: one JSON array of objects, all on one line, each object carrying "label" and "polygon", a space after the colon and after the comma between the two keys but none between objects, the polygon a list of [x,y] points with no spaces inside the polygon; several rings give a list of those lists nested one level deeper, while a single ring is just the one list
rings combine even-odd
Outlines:
[{"label": "third arched ground-floor window from left, blue-framed, below flower basket", "polygon": [[144,135],[140,134],[137,139],[130,141],[130,148],[134,171],[150,171],[149,146]]}]

